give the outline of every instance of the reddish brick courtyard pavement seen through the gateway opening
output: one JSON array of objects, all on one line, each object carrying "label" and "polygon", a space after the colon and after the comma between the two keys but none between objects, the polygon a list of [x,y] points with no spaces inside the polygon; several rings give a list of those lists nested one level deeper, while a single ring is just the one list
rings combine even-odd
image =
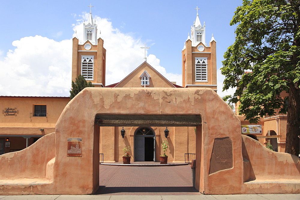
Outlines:
[{"label": "reddish brick courtyard pavement seen through the gateway opening", "polygon": [[100,165],[97,195],[202,195],[193,188],[190,165]]}]

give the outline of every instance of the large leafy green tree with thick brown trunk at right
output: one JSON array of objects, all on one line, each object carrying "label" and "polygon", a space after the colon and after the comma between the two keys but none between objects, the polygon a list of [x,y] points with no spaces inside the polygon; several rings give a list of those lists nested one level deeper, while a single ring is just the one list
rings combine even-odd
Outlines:
[{"label": "large leafy green tree with thick brown trunk at right", "polygon": [[[250,123],[287,112],[286,153],[298,155],[300,133],[300,1],[243,0],[230,25],[235,42],[224,54],[223,91]],[[280,96],[285,91],[288,96]],[[288,102],[288,103],[287,103]]]}]

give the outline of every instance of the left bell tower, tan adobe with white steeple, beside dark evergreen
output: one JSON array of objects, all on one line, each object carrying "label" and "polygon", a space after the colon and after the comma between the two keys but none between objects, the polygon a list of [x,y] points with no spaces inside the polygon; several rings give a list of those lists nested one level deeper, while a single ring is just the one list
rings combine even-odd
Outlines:
[{"label": "left bell tower, tan adobe with white steeple, beside dark evergreen", "polygon": [[95,87],[105,86],[106,49],[104,40],[97,39],[97,24],[92,18],[91,7],[87,22],[83,22],[82,38],[73,37],[72,48],[72,81],[83,75]]}]

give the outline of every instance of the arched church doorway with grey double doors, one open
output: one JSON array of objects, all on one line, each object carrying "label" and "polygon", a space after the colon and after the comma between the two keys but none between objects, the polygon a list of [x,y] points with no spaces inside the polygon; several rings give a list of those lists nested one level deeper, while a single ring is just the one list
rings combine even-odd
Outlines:
[{"label": "arched church doorway with grey double doors, one open", "polygon": [[155,133],[152,128],[140,127],[135,131],[134,161],[155,162]]}]

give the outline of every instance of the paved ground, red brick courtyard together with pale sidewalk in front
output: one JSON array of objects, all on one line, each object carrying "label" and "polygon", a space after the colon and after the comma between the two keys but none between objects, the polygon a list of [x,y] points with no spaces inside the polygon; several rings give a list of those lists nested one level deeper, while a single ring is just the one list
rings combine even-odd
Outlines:
[{"label": "paved ground, red brick courtyard together with pale sidewalk in front", "polygon": [[27,199],[300,199],[300,194],[202,195],[192,187],[190,165],[135,167],[100,165],[100,188],[95,195],[0,196],[1,200]]}]

